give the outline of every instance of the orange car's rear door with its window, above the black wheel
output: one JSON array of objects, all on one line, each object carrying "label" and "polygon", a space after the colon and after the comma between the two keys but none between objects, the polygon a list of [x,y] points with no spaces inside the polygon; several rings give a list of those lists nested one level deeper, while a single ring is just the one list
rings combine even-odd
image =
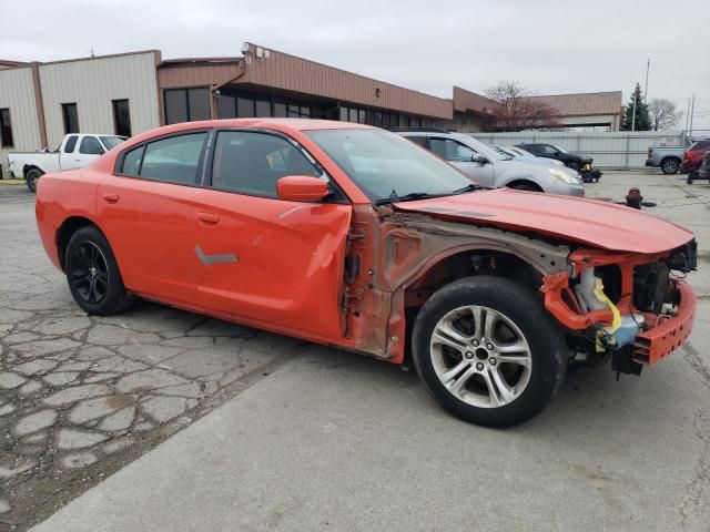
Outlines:
[{"label": "orange car's rear door with its window, above the black wheel", "polygon": [[124,152],[97,197],[125,286],[190,307],[201,273],[192,219],[206,135],[182,132]]}]

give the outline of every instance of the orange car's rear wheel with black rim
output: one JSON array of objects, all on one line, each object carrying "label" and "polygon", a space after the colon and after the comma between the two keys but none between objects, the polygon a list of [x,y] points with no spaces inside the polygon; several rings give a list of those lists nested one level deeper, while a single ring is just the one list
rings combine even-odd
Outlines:
[{"label": "orange car's rear wheel with black rim", "polygon": [[81,227],[69,239],[64,272],[71,295],[87,314],[110,316],[131,304],[109,241],[95,226]]}]

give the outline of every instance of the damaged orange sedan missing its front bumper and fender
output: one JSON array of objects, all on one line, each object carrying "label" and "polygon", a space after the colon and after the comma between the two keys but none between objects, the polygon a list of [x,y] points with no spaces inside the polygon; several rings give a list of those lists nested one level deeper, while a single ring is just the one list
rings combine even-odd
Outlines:
[{"label": "damaged orange sedan missing its front bumper and fender", "polygon": [[395,134],[316,120],[191,122],[39,183],[44,248],[89,314],[133,297],[409,356],[449,412],[513,426],[572,365],[677,349],[693,235],[582,198],[481,190]]}]

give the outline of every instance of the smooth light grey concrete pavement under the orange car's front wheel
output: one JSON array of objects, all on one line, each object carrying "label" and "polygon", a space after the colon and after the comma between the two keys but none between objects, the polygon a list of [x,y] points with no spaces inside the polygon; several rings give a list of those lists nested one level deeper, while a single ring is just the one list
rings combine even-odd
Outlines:
[{"label": "smooth light grey concrete pavement under the orange car's front wheel", "polygon": [[[696,330],[641,378],[580,370],[542,416],[494,431],[439,410],[414,374],[324,347],[278,346],[291,354],[274,372],[190,417],[197,420],[33,530],[707,532],[710,187],[608,173],[588,191],[621,198],[632,185],[659,202],[648,212],[690,226],[701,246],[701,272],[690,276],[701,299]],[[150,329],[161,311],[144,309],[130,329]]]}]

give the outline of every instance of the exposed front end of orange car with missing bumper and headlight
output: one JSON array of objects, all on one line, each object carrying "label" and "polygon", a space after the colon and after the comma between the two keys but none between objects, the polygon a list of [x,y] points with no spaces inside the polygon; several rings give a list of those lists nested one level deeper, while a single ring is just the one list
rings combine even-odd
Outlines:
[{"label": "exposed front end of orange car with missing bumper and headlight", "polygon": [[694,239],[667,253],[576,249],[568,272],[546,275],[545,307],[567,330],[570,361],[640,375],[692,330],[696,297],[682,276],[697,267]]}]

